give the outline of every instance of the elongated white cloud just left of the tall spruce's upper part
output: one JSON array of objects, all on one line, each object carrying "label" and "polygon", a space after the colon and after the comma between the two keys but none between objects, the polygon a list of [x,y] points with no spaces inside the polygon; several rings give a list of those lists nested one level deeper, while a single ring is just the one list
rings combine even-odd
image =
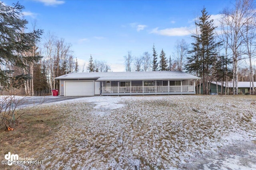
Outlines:
[{"label": "elongated white cloud just left of the tall spruce's upper part", "polygon": [[165,36],[185,36],[190,35],[192,33],[192,29],[188,27],[179,27],[179,28],[166,28],[166,29],[158,29],[154,28],[150,33],[155,33],[159,35]]}]

